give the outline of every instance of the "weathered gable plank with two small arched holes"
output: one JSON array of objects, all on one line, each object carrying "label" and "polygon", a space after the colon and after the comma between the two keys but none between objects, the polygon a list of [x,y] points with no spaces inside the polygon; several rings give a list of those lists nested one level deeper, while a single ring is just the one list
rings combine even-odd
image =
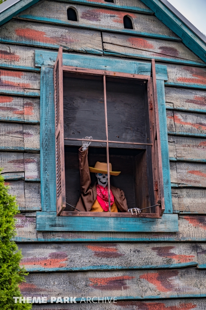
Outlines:
[{"label": "weathered gable plank with two small arched holes", "polygon": [[[18,18],[42,21],[51,24],[78,26],[89,29],[120,31],[123,33],[141,34],[155,38],[169,38],[180,40],[175,33],[158,20],[154,15],[145,15],[131,12],[134,30],[124,29],[123,17],[127,11],[112,10],[85,5],[73,4],[78,14],[78,22],[67,18],[68,4],[66,2],[44,0],[29,7],[16,15]],[[58,18],[55,12],[58,11]]]}]

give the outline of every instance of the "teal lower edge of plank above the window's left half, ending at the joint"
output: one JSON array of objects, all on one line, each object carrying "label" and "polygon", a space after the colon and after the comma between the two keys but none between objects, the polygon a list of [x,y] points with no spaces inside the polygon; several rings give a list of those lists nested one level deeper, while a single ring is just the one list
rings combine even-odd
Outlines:
[{"label": "teal lower edge of plank above the window's left half, ending at the joint", "polygon": [[[33,40],[24,40],[24,39],[14,39],[14,40],[10,40],[10,39],[7,39],[7,38],[1,38],[1,33],[0,33],[0,42],[8,42],[8,43],[18,43],[18,44],[21,44],[21,45],[29,45],[29,46],[37,46],[37,47],[49,47],[49,48],[52,48],[52,49],[59,49],[59,45],[58,44],[52,44],[52,43],[46,43],[46,42],[41,42],[41,41],[33,41]],[[65,50],[68,50],[68,51],[74,51],[74,48],[71,48],[71,47],[67,47],[67,46],[63,46],[63,48]],[[99,55],[102,55],[103,54],[103,50],[97,50],[97,49],[94,49],[94,48],[90,48],[90,47],[87,47],[87,48],[79,48],[78,50],[76,50],[77,52],[81,52],[81,53],[89,53],[89,54],[99,54]]]}]

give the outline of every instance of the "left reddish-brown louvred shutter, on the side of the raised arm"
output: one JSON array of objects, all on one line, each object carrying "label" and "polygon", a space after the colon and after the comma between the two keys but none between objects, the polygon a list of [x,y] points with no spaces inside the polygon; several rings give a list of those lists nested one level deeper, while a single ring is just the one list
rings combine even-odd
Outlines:
[{"label": "left reddish-brown louvred shutter, on the side of the raised arm", "polygon": [[59,47],[54,67],[55,87],[55,148],[56,148],[56,209],[60,215],[66,207],[64,173],[64,118],[62,47]]}]

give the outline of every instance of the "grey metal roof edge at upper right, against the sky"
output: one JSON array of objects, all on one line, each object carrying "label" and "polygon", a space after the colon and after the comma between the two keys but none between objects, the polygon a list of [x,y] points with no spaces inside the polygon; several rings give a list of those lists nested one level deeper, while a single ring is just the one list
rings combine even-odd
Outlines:
[{"label": "grey metal roof edge at upper right, against the sky", "polygon": [[[8,1],[8,0],[7,0]],[[206,43],[206,36],[199,31],[189,20],[186,19],[184,15],[182,15],[173,5],[168,2],[167,0],[160,0],[170,11],[173,12],[174,15],[176,15],[182,22],[192,31],[196,34],[196,36],[202,40],[204,43]]]}]

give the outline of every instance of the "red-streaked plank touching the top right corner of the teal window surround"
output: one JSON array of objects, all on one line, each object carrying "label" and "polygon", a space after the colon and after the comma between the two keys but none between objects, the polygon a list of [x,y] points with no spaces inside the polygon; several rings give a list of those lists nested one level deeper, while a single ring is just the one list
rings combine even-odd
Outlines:
[{"label": "red-streaked plank touching the top right corner of the teal window surround", "polygon": [[165,85],[206,89],[205,68],[168,64],[167,70]]}]

